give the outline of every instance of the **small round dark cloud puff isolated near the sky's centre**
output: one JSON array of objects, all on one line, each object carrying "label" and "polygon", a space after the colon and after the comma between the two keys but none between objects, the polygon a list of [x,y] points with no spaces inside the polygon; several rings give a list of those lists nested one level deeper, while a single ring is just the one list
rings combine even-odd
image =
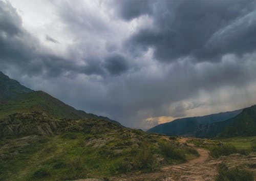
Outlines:
[{"label": "small round dark cloud puff isolated near the sky's centre", "polygon": [[114,54],[106,57],[105,68],[111,75],[117,76],[125,73],[129,69],[129,65],[122,55]]}]

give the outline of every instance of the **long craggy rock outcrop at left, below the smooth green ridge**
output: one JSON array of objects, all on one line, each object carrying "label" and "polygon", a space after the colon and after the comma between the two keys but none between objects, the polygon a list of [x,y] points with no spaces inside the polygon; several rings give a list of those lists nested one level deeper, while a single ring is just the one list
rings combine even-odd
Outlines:
[{"label": "long craggy rock outcrop at left, below the smooth green ridge", "polygon": [[41,111],[16,113],[0,119],[0,137],[53,135],[61,132],[104,133],[121,125],[101,119],[54,118]]}]

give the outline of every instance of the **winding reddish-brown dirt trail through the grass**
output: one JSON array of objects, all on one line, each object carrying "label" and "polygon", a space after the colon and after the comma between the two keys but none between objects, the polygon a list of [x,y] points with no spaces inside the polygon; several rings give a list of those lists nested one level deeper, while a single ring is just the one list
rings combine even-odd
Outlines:
[{"label": "winding reddish-brown dirt trail through the grass", "polygon": [[203,148],[197,148],[193,144],[187,143],[188,140],[189,138],[181,138],[179,142],[197,149],[200,154],[199,157],[191,159],[183,164],[162,167],[157,172],[121,175],[118,177],[112,177],[110,180],[214,180],[214,177],[217,174],[217,163],[208,163],[208,151]]}]

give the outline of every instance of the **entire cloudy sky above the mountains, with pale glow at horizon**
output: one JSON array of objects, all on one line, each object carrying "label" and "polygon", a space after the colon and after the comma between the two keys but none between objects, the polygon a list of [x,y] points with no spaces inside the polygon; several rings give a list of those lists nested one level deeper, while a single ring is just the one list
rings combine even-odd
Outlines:
[{"label": "entire cloudy sky above the mountains, with pale glow at horizon", "polygon": [[252,0],[0,0],[0,71],[124,126],[256,104]]}]

